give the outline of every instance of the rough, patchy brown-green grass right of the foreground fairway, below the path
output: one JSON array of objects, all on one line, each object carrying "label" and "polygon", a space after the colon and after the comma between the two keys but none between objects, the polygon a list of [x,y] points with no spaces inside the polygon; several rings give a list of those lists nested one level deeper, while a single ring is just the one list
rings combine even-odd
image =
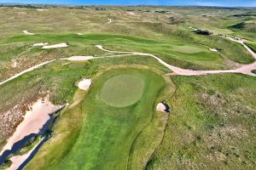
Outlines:
[{"label": "rough, patchy brown-green grass right of the foreground fairway, below the path", "polygon": [[177,91],[165,137],[146,169],[253,169],[256,79],[172,77]]}]

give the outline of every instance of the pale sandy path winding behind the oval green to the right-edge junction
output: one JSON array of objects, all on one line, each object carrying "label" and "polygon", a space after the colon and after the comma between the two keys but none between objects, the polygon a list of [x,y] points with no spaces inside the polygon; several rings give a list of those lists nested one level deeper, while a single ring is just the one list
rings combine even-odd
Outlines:
[{"label": "pale sandy path winding behind the oval green to the right-edge junction", "polygon": [[[231,37],[227,37],[231,41],[239,42],[241,43],[247,51],[253,55],[253,58],[256,59],[256,54],[253,52],[251,48],[248,48],[247,45],[239,40],[236,40]],[[120,53],[120,54],[135,54],[135,55],[143,55],[143,56],[149,56],[152,57],[160,62],[161,65],[165,65],[170,70],[174,71],[174,73],[166,74],[166,75],[183,75],[183,76],[201,76],[201,75],[207,75],[207,74],[219,74],[219,73],[241,73],[249,76],[256,77],[256,74],[253,74],[252,71],[256,69],[256,61],[253,64],[249,65],[241,65],[241,67],[234,69],[234,70],[216,70],[216,71],[194,71],[189,69],[182,69],[174,65],[167,64],[164,60],[158,58],[154,54],[145,54],[145,53],[137,53],[137,52],[118,52],[118,51],[111,51],[108,49],[105,49],[102,47],[102,45],[96,45],[96,48],[102,49],[103,51],[109,52],[109,53]]]}]

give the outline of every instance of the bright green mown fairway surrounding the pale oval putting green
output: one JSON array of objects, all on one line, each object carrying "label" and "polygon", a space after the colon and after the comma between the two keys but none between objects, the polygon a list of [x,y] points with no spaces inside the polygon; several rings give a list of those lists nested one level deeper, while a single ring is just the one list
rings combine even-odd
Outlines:
[{"label": "bright green mown fairway surrounding the pale oval putting green", "polygon": [[[129,78],[131,78],[131,75],[134,75],[140,77],[140,79],[143,79],[143,82],[145,82],[143,96],[136,104],[116,108],[111,105],[106,105],[102,99],[99,99],[101,89],[105,86],[104,83],[106,83],[109,78],[127,74]],[[62,154],[66,154],[60,156],[61,154],[57,151],[60,150],[60,148],[55,147],[55,144],[59,144],[59,142],[52,143],[49,141],[49,144],[45,144],[44,147],[39,150],[34,161],[28,165],[28,169],[34,167],[34,163],[38,164],[38,161],[42,162],[42,164],[40,163],[42,167],[38,166],[38,168],[124,169],[128,166],[128,159],[131,154],[130,150],[134,141],[137,141],[137,144],[141,144],[142,141],[143,143],[150,141],[151,144],[148,145],[148,150],[151,150],[151,152],[155,149],[157,144],[160,143],[165,129],[166,114],[156,113],[154,107],[158,94],[165,89],[165,81],[163,78],[148,70],[119,68],[102,73],[100,76],[94,78],[93,82],[93,87],[88,94],[86,94],[81,106],[79,106],[79,108],[82,109],[83,125],[81,130],[77,131],[77,139],[72,138],[73,146],[67,147],[67,144],[62,144],[61,148],[67,148],[61,151]],[[168,89],[170,90],[170,88]],[[173,92],[173,89],[168,93],[170,92]],[[148,107],[148,105],[151,105],[151,107]],[[63,115],[66,114],[68,113],[64,113]],[[160,118],[164,119],[160,120]],[[152,127],[149,128],[150,126]],[[154,127],[160,128],[157,130],[157,128],[154,129]],[[58,131],[60,128],[61,125],[57,123],[56,130]],[[145,131],[143,129],[145,129]],[[159,139],[146,138],[150,136],[150,129],[153,131],[152,135]],[[142,136],[139,135],[141,132],[143,132]],[[54,136],[58,135],[55,134]],[[55,140],[55,137],[53,137],[52,140]],[[66,140],[70,140],[70,137],[66,136],[65,141]],[[71,144],[69,141],[67,141],[67,143]],[[45,150],[47,150],[47,155],[44,154]],[[55,157],[54,162],[51,161],[51,157]],[[81,157],[83,157],[83,159],[81,159]]]}]

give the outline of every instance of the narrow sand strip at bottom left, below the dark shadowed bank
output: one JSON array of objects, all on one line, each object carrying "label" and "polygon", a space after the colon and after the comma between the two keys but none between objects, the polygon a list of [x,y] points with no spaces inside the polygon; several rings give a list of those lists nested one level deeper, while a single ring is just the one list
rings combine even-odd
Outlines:
[{"label": "narrow sand strip at bottom left, below the dark shadowed bank", "polygon": [[[44,139],[44,138],[43,138]],[[41,139],[41,141],[43,140]],[[38,142],[38,144],[41,143],[41,141]],[[38,147],[38,144],[36,144],[32,150],[28,151],[26,154],[22,156],[13,156],[9,160],[12,161],[12,164],[7,170],[16,170],[20,167],[20,165],[26,161],[26,159],[32,154],[32,151],[35,150]]]}]

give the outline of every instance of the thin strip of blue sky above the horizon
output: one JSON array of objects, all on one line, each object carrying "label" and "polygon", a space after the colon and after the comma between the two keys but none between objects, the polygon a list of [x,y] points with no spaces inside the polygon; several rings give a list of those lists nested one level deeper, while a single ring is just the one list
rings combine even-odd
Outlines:
[{"label": "thin strip of blue sky above the horizon", "polygon": [[0,0],[0,3],[256,7],[256,0]]}]

